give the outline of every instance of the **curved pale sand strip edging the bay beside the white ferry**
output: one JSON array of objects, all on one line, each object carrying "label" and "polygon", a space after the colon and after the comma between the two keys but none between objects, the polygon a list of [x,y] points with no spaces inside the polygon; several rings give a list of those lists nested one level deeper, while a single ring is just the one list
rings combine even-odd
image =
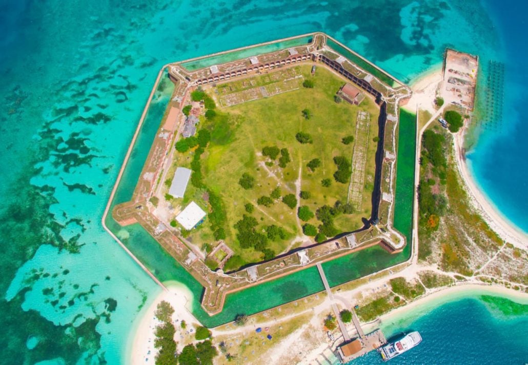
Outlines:
[{"label": "curved pale sand strip edging the bay beside the white ferry", "polygon": [[[528,305],[528,294],[507,289],[504,286],[475,283],[458,284],[443,287],[388,313],[382,314],[375,321],[364,324],[364,327],[369,331],[375,328],[382,328],[384,331],[387,329],[394,330],[395,327],[399,327],[403,323],[408,324],[426,315],[430,310],[439,308],[444,304],[468,298],[478,299],[478,296],[482,295],[501,297],[515,303]],[[391,335],[391,333],[385,334]]]}]

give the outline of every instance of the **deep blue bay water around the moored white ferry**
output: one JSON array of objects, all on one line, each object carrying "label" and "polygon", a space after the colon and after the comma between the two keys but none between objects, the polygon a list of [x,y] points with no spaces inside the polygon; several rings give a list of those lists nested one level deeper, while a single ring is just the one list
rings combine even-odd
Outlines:
[{"label": "deep blue bay water around the moored white ferry", "polygon": [[[512,310],[514,308],[514,310]],[[442,304],[394,323],[382,324],[385,335],[419,331],[422,343],[391,364],[523,364],[528,358],[528,305],[470,296]],[[372,351],[351,365],[382,364]]]}]

